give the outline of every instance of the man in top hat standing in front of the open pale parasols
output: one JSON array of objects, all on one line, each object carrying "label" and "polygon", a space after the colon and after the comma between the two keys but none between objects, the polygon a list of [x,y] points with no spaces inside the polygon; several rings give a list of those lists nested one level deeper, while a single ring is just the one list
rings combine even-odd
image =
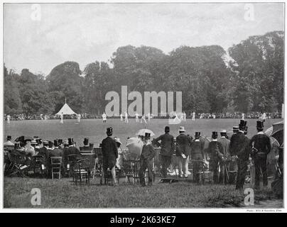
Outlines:
[{"label": "man in top hat standing in front of the open pale parasols", "polygon": [[153,184],[153,157],[156,156],[153,145],[151,144],[151,133],[145,133],[144,146],[141,151],[140,169],[139,169],[139,182],[141,186],[146,186],[144,179],[144,172],[148,169],[148,185]]}]

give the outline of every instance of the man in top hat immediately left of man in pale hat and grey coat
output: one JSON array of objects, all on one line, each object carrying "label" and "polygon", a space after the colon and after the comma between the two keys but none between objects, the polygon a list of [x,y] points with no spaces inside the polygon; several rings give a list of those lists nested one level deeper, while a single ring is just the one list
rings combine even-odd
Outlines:
[{"label": "man in top hat immediately left of man in pale hat and grey coat", "polygon": [[216,184],[218,183],[218,164],[223,157],[223,147],[217,140],[218,134],[216,131],[212,132],[212,141],[208,145],[207,153],[210,157],[210,170],[212,171],[212,180]]}]

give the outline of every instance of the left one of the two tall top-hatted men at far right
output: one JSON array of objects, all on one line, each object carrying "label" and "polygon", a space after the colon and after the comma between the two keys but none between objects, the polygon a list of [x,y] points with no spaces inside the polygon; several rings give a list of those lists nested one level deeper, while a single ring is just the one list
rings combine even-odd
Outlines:
[{"label": "left one of the two tall top-hatted men at far right", "polygon": [[235,189],[243,189],[247,167],[249,164],[249,139],[244,135],[247,121],[240,120],[239,132],[232,135],[229,143],[229,153],[237,160],[237,182]]}]

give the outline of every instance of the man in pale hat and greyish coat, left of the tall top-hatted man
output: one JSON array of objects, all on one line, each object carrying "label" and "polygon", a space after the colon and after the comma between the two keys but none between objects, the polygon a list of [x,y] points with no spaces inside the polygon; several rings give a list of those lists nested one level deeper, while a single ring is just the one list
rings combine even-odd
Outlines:
[{"label": "man in pale hat and greyish coat, left of the tall top-hatted man", "polygon": [[231,161],[231,156],[229,154],[229,143],[230,140],[227,139],[227,131],[222,130],[220,132],[221,138],[218,140],[219,143],[221,143],[223,148],[223,156],[220,160],[220,183],[227,184],[229,182],[228,177],[228,171],[229,171],[229,164]]}]

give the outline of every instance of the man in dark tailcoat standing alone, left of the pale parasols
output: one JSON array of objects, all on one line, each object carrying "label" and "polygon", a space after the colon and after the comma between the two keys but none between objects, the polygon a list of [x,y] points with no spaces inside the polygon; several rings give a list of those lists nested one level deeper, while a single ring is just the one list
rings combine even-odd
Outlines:
[{"label": "man in dark tailcoat standing alone, left of the pale parasols", "polygon": [[114,185],[117,185],[116,179],[116,163],[118,158],[117,143],[112,138],[112,127],[107,128],[107,138],[102,140],[102,155],[103,155],[103,174],[107,176],[107,169],[111,170]]}]

